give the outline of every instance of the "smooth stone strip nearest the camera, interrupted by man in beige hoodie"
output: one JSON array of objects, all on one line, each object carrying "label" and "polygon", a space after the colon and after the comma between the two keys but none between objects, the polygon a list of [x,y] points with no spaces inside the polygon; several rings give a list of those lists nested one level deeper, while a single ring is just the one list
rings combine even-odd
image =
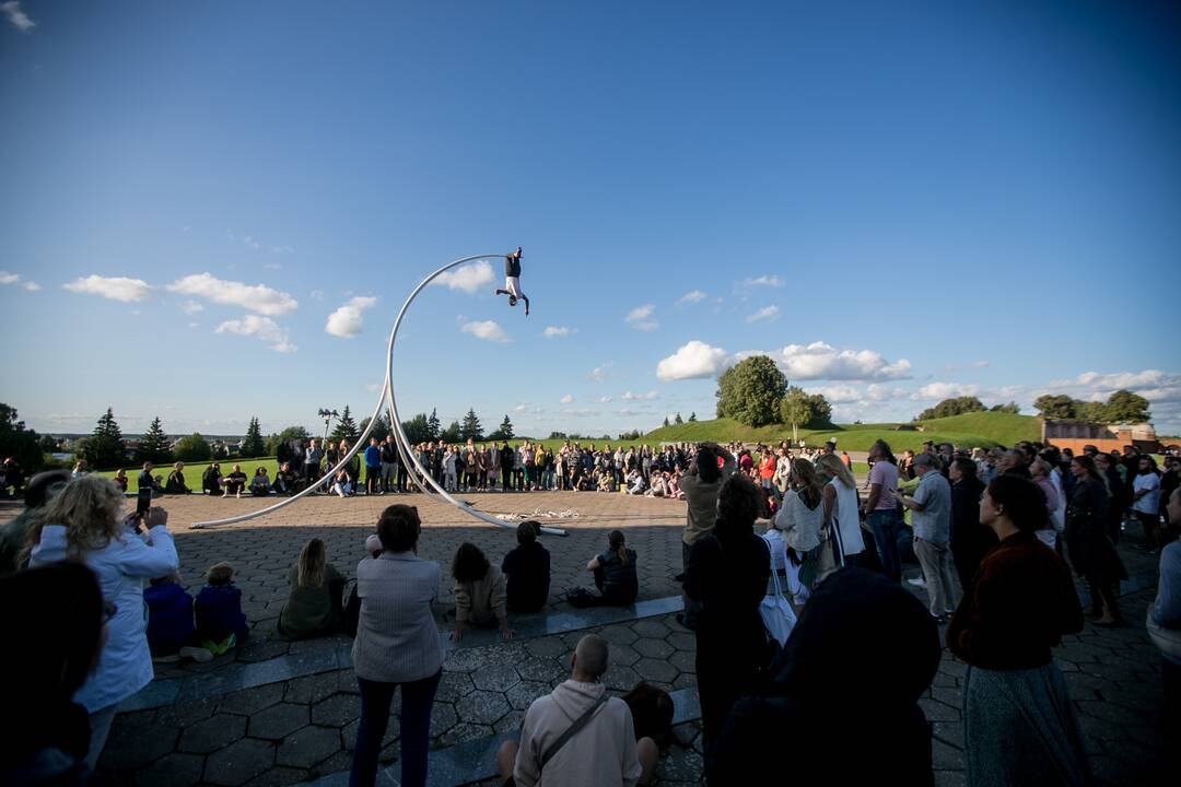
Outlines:
[{"label": "smooth stone strip nearest the camera, interrupted by man in beige hoodie", "polygon": [[[672,697],[673,702],[673,726],[697,721],[702,717],[702,704],[697,697],[696,687],[671,691],[668,696]],[[428,758],[428,787],[459,787],[496,776],[496,752],[504,741],[516,740],[518,734],[515,730],[501,733],[435,749]],[[377,774],[377,783],[383,787],[396,787],[398,785],[396,775],[398,768],[397,763],[380,768]],[[341,770],[321,776],[315,781],[305,782],[302,787],[346,787],[347,785],[348,772]]]}]

